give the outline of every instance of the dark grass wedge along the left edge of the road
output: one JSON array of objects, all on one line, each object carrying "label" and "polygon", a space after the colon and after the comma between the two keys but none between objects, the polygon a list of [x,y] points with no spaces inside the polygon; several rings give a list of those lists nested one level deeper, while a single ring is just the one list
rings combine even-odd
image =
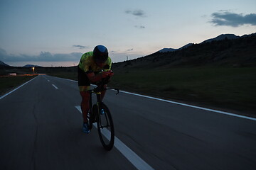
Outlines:
[{"label": "dark grass wedge along the left edge of the road", "polygon": [[20,86],[36,76],[0,77],[0,96]]}]

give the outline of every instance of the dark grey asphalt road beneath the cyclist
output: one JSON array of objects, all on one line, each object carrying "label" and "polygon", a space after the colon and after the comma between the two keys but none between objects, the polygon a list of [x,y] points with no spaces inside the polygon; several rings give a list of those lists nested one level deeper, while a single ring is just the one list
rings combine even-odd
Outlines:
[{"label": "dark grey asphalt road beneath the cyclist", "polygon": [[105,103],[110,152],[95,128],[82,133],[75,81],[38,76],[1,98],[0,169],[256,169],[253,119],[114,91]]}]

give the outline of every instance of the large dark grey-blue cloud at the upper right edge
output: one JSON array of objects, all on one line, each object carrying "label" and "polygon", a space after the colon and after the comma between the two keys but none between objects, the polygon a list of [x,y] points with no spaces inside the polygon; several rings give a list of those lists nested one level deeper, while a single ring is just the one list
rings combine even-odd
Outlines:
[{"label": "large dark grey-blue cloud at the upper right edge", "polygon": [[211,15],[213,20],[210,23],[213,23],[215,26],[232,26],[238,27],[245,24],[256,26],[256,13],[250,13],[243,15],[242,13],[230,13],[228,11],[220,11],[213,13]]}]

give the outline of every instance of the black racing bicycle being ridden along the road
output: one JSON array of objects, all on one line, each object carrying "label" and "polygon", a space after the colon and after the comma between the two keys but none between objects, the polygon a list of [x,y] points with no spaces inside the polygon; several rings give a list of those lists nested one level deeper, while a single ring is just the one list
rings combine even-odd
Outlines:
[{"label": "black racing bicycle being ridden along the road", "polygon": [[[95,89],[89,90],[90,92],[90,110],[87,113],[87,120],[90,130],[92,129],[92,124],[97,123],[97,132],[100,137],[100,142],[102,146],[110,151],[114,146],[114,123],[112,120],[112,115],[110,109],[107,108],[105,103],[100,99],[101,91],[116,90],[119,94],[119,89],[104,88],[104,81],[95,87]],[[92,94],[96,94],[97,102],[92,106]],[[110,134],[107,132],[110,129]],[[107,135],[106,135],[107,133]],[[105,135],[105,137],[103,136]]]}]

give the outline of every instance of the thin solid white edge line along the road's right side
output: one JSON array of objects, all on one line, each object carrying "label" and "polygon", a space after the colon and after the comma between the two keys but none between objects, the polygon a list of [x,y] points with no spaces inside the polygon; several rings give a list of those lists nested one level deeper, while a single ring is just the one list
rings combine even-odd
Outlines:
[{"label": "thin solid white edge line along the road's right side", "polygon": [[[59,78],[59,79],[63,79],[63,78]],[[74,81],[74,80],[70,80],[70,79],[65,79],[65,80]],[[75,81],[75,82],[78,82],[78,81]],[[186,106],[186,107],[191,107],[191,108],[198,108],[198,109],[201,109],[201,110],[204,110],[204,111],[211,111],[211,112],[220,113],[220,114],[224,114],[224,115],[231,115],[231,116],[234,116],[234,117],[237,117],[237,118],[245,118],[245,119],[248,119],[248,120],[255,120],[256,121],[256,118],[251,118],[251,117],[248,117],[248,116],[245,116],[245,115],[238,115],[238,114],[235,114],[235,113],[217,111],[217,110],[213,110],[213,109],[210,109],[210,108],[203,108],[203,107],[199,107],[199,106],[188,105],[188,104],[185,104],[185,103],[178,103],[176,101],[168,101],[168,100],[164,100],[164,99],[161,99],[161,98],[154,98],[154,97],[145,96],[145,95],[142,95],[142,94],[134,94],[134,93],[130,93],[130,92],[127,92],[127,91],[119,91],[119,92],[122,92],[124,94],[131,94],[131,95],[134,95],[134,96],[141,96],[141,97],[144,97],[144,98],[151,98],[151,99],[154,99],[154,100],[157,100],[157,101],[165,101],[167,103],[173,103],[173,104],[177,104],[177,105],[181,105],[181,106]]]}]

